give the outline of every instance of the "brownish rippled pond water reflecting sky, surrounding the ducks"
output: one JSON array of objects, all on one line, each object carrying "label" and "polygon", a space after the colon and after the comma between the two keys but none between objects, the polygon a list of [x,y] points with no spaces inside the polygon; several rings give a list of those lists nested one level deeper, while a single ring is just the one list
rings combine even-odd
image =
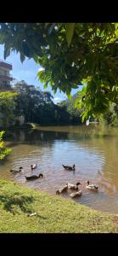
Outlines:
[{"label": "brownish rippled pond water reflecting sky, surrounding the ducks", "polygon": [[[14,131],[6,144],[13,150],[0,165],[0,177],[25,183],[25,175],[42,172],[44,178],[25,184],[52,194],[67,182],[81,181],[82,195],[76,202],[118,213],[117,129],[98,125],[41,127],[38,131]],[[34,163],[37,169],[31,171]],[[76,171],[66,171],[62,164],[76,164]],[[9,172],[20,166],[23,173]],[[87,179],[98,183],[98,193],[86,189]],[[63,196],[70,199],[69,194]]]}]

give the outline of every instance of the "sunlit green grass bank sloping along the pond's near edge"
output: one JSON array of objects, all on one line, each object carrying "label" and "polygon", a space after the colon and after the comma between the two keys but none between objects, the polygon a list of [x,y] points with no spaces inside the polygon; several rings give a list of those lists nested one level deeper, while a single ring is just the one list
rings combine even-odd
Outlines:
[{"label": "sunlit green grass bank sloping along the pond's near edge", "polygon": [[112,233],[118,232],[118,216],[1,179],[0,232]]}]

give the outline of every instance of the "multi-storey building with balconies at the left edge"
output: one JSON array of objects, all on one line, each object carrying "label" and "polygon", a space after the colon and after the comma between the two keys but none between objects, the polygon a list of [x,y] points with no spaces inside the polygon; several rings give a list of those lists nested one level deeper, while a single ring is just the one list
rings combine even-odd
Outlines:
[{"label": "multi-storey building with balconies at the left edge", "polygon": [[0,60],[0,90],[11,90],[10,82],[13,80],[11,70],[12,64]]}]

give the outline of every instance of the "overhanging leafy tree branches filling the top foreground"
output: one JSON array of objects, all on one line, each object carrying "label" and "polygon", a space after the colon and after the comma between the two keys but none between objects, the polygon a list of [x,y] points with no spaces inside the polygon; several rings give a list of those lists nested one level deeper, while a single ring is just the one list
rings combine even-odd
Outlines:
[{"label": "overhanging leafy tree branches filling the top foreground", "polygon": [[0,23],[4,58],[10,50],[42,67],[38,79],[70,96],[82,86],[76,107],[82,120],[118,102],[118,23]]}]

